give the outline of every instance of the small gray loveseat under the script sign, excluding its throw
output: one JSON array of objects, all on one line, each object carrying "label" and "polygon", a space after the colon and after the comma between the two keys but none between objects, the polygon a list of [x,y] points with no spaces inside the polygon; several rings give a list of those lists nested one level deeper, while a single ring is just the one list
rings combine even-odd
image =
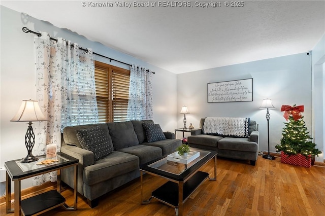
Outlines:
[{"label": "small gray loveseat under the script sign, excluding its throw", "polygon": [[[258,156],[259,132],[255,121],[249,120],[249,131],[247,137],[234,137],[220,134],[204,133],[205,118],[200,121],[200,128],[191,131],[187,137],[190,147],[214,150],[218,156],[249,160],[251,165],[255,165]],[[223,127],[231,127],[226,124]]]}]

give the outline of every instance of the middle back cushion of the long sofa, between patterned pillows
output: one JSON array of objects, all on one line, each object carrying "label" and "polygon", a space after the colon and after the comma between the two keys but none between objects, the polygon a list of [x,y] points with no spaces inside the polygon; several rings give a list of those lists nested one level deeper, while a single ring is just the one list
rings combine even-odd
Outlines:
[{"label": "middle back cushion of the long sofa, between patterned pillows", "polygon": [[119,150],[139,144],[132,122],[107,123],[114,150]]}]

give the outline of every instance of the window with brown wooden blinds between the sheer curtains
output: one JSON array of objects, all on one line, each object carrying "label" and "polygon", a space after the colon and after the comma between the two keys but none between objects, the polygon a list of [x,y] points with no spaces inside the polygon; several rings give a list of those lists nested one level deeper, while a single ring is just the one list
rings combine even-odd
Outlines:
[{"label": "window with brown wooden blinds between the sheer curtains", "polygon": [[130,71],[95,61],[99,122],[126,121]]}]

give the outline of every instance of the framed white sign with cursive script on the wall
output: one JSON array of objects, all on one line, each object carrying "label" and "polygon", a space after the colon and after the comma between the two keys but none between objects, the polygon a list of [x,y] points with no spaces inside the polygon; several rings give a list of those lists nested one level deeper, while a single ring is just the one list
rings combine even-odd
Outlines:
[{"label": "framed white sign with cursive script on the wall", "polygon": [[208,83],[208,103],[253,101],[253,78]]}]

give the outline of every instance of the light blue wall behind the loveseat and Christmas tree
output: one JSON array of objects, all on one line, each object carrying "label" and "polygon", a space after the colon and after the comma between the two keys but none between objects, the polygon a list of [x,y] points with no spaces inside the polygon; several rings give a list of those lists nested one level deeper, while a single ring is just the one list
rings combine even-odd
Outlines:
[{"label": "light blue wall behind the loveseat and Christmas tree", "polygon": [[[217,59],[216,59],[217,60]],[[207,83],[253,78],[253,101],[207,102]],[[264,98],[271,98],[270,151],[280,142],[284,127],[281,105],[304,105],[304,120],[312,129],[311,58],[307,53],[211,68],[177,75],[177,126],[182,126],[182,105],[187,105],[187,125],[199,127],[204,117],[250,117],[259,124],[259,151],[267,151],[266,110],[258,110]],[[315,119],[314,121],[318,121]],[[322,149],[321,146],[317,148]]]}]

